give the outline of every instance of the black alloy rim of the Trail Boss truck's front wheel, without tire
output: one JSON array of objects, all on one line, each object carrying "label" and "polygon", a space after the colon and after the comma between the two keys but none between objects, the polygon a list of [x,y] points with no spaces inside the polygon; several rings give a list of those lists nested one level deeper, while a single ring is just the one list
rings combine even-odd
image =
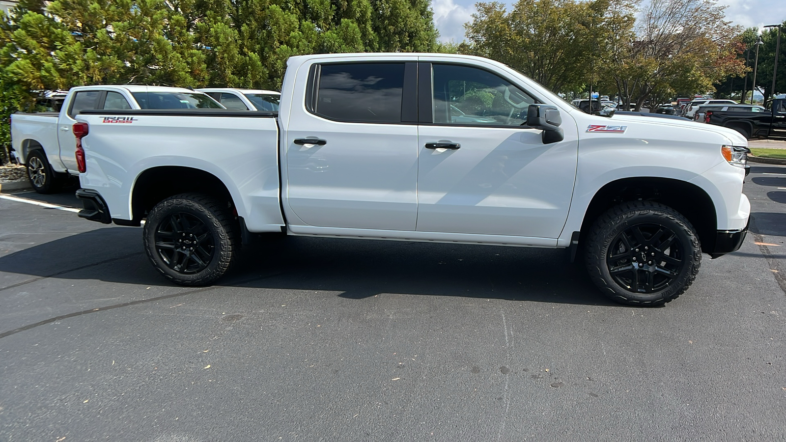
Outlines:
[{"label": "black alloy rim of the Trail Boss truck's front wheel, without tire", "polygon": [[683,249],[678,235],[667,227],[630,226],[612,240],[606,257],[608,273],[629,292],[658,292],[681,274]]}]

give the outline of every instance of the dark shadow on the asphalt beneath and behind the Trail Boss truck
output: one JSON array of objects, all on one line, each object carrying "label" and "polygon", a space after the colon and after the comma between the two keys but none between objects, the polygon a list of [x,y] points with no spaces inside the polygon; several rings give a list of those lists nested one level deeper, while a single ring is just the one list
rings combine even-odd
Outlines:
[{"label": "dark shadow on the asphalt beneath and behind the Trail Boss truck", "polygon": [[[0,257],[0,289],[24,285],[31,279],[13,283],[2,274],[170,285],[132,227],[99,228]],[[270,235],[244,248],[216,286],[335,291],[357,300],[394,293],[622,307],[603,297],[562,249],[409,241]]]}]

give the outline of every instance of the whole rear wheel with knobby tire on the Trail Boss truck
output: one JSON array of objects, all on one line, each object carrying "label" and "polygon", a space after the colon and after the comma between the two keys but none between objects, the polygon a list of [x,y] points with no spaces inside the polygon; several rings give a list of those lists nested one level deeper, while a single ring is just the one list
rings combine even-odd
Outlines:
[{"label": "whole rear wheel with knobby tire on the Trail Boss truck", "polygon": [[169,197],[145,222],[145,252],[153,267],[179,285],[209,285],[237,253],[235,219],[226,206],[199,193]]}]

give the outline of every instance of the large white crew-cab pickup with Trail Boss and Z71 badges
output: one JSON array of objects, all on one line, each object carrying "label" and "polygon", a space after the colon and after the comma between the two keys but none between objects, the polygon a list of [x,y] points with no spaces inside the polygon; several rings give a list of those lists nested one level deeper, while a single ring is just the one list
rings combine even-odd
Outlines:
[{"label": "large white crew-cab pickup with Trail Boss and Z71 badges", "polygon": [[292,57],[277,113],[76,120],[79,215],[145,220],[149,259],[182,285],[215,282],[249,233],[285,232],[564,248],[608,297],[657,305],[747,232],[736,131],[588,115],[480,57]]}]

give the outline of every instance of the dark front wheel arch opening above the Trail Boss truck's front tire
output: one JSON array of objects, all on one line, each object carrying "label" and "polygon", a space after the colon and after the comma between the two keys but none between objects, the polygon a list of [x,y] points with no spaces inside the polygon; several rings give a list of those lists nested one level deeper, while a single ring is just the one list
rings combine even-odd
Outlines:
[{"label": "dark front wheel arch opening above the Trail Boss truck's front tire", "polygon": [[582,219],[579,244],[595,220],[609,208],[626,201],[656,201],[680,212],[696,228],[701,249],[714,249],[718,216],[710,195],[700,186],[680,179],[633,177],[608,182],[597,190]]}]

